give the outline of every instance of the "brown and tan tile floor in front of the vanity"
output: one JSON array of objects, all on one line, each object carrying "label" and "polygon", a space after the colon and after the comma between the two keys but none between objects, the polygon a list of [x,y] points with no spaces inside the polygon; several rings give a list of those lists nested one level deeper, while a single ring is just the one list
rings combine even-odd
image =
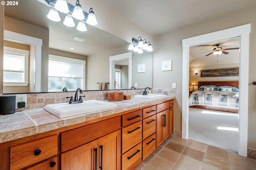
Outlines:
[{"label": "brown and tan tile floor in front of the vanity", "polygon": [[256,160],[171,136],[136,170],[256,170]]}]

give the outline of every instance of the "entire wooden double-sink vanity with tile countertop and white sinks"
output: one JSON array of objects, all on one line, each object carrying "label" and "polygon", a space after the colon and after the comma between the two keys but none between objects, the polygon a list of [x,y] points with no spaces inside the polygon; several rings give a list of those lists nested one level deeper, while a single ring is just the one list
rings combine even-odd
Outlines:
[{"label": "entire wooden double-sink vanity with tile countertop and white sinks", "polygon": [[[173,99],[135,95],[131,100],[49,104],[5,115],[17,122],[0,133],[1,168],[133,170],[173,133]],[[23,127],[28,121],[34,124]]]}]

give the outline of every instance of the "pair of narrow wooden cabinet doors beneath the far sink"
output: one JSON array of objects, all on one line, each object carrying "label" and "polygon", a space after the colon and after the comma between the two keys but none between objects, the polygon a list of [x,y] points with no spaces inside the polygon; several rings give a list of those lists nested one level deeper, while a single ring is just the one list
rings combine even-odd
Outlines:
[{"label": "pair of narrow wooden cabinet doors beneath the far sink", "polygon": [[156,114],[156,147],[169,137],[169,109]]}]

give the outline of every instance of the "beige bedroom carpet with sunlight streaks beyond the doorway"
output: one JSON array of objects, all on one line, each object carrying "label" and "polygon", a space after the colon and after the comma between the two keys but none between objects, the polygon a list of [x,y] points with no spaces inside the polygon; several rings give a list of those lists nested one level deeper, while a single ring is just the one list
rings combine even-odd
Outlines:
[{"label": "beige bedroom carpet with sunlight streaks beyond the doorway", "polygon": [[238,114],[189,108],[188,138],[214,147],[238,150]]}]

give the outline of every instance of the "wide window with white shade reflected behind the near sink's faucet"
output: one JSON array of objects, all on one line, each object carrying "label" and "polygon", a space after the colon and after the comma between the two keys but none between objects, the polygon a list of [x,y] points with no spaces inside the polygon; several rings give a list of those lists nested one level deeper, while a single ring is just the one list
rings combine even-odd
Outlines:
[{"label": "wide window with white shade reflected behind the near sink's faucet", "polygon": [[85,89],[86,61],[49,55],[48,91]]}]

